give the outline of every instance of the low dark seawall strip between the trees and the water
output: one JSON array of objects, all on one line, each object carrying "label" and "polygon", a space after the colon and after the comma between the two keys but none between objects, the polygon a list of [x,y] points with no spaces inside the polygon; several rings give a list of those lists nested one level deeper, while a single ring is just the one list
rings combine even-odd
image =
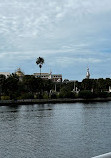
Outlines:
[{"label": "low dark seawall strip between the trees and the water", "polygon": [[28,104],[56,104],[56,103],[75,103],[75,102],[106,102],[111,101],[111,97],[108,98],[94,98],[94,99],[22,99],[22,100],[0,100],[0,105],[28,105]]}]

